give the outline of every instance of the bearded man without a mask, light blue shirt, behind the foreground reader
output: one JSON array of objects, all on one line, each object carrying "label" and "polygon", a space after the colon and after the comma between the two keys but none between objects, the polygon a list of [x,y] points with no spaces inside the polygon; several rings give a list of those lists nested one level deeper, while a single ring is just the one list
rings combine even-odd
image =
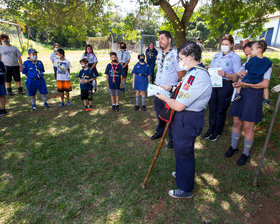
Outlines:
[{"label": "bearded man without a mask, light blue shirt, behind the foreground reader", "polygon": [[[157,57],[157,74],[156,74],[156,85],[176,85],[178,80],[180,80],[185,71],[179,68],[179,63],[177,59],[177,50],[171,48],[172,37],[168,31],[159,32],[159,44],[162,51],[159,52]],[[158,116],[164,107],[164,101],[158,97],[154,98],[154,108],[158,118],[158,125],[156,128],[156,133],[151,137],[151,140],[161,138],[163,135],[166,122],[161,120]],[[168,148],[173,148],[172,132],[169,128],[169,142]]]}]

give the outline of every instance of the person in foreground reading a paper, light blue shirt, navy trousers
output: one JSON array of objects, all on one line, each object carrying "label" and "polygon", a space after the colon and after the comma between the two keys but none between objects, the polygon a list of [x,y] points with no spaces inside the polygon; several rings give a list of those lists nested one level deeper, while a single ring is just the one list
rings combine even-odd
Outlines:
[{"label": "person in foreground reading a paper, light blue shirt, navy trousers", "polygon": [[[175,99],[165,95],[157,97],[175,110],[171,121],[174,152],[176,158],[176,177],[178,189],[170,190],[173,198],[191,198],[195,177],[195,139],[204,126],[206,105],[211,97],[212,84],[207,70],[200,63],[201,48],[194,42],[187,41],[179,49],[180,67],[187,69],[187,74],[178,84]],[[164,86],[166,90],[170,86]]]}]

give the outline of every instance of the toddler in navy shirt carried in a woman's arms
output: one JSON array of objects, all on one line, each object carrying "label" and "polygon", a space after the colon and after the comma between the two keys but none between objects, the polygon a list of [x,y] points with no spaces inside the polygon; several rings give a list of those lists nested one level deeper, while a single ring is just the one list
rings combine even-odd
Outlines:
[{"label": "toddler in navy shirt carried in a woman's arms", "polygon": [[[248,62],[245,64],[245,70],[239,72],[242,78],[242,82],[257,84],[263,80],[263,76],[266,71],[271,67],[272,62],[263,56],[263,53],[267,49],[267,43],[264,40],[256,41],[252,45],[251,56],[248,57]],[[241,88],[236,89],[234,101],[240,100]],[[264,101],[269,104],[269,91],[268,88],[264,89]]]}]

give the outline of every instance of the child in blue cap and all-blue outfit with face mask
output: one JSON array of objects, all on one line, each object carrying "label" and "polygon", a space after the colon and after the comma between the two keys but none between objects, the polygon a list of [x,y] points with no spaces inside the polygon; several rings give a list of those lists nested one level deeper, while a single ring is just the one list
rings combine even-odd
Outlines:
[{"label": "child in blue cap and all-blue outfit with face mask", "polygon": [[47,103],[47,85],[43,78],[44,65],[40,60],[37,60],[37,51],[35,49],[28,49],[28,58],[22,65],[22,74],[25,74],[27,79],[25,81],[26,88],[28,90],[28,96],[31,98],[32,110],[36,110],[36,92],[39,90],[42,95],[44,106],[49,108]]}]

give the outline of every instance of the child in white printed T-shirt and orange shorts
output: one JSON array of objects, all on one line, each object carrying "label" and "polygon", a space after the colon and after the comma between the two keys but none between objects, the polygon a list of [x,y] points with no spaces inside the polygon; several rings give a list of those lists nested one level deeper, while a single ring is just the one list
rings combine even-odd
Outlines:
[{"label": "child in white printed T-shirt and orange shorts", "polygon": [[66,105],[71,106],[70,91],[72,91],[72,88],[70,82],[70,68],[72,68],[72,66],[70,61],[65,58],[65,52],[63,49],[58,49],[57,55],[59,57],[59,59],[55,60],[55,66],[57,67],[57,91],[59,92],[61,99],[58,106],[64,106],[64,92],[67,100]]}]

